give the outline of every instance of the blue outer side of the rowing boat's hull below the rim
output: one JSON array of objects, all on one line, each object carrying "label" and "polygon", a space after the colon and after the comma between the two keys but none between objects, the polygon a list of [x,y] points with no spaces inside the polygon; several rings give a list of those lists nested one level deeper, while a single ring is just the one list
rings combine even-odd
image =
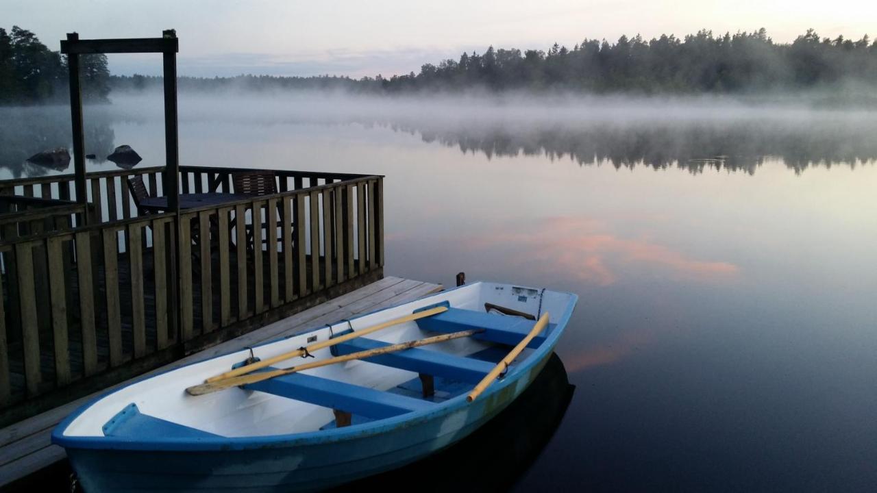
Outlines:
[{"label": "blue outer side of the rowing boat's hull below the rim", "polygon": [[[548,346],[548,345],[545,345]],[[229,450],[109,450],[68,448],[86,491],[313,491],[399,468],[465,438],[511,404],[552,354],[515,378],[496,382],[479,399],[457,399],[437,413],[389,430],[363,432],[323,443]],[[511,375],[510,375],[511,376]]]}]

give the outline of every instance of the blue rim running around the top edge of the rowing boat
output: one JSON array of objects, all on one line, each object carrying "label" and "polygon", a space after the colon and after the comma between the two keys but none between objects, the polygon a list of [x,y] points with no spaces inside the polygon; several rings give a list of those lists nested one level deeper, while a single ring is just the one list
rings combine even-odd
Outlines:
[{"label": "blue rim running around the top edge of the rowing boat", "polygon": [[[453,289],[446,289],[444,291],[440,291],[439,293],[435,293],[426,297],[418,298],[414,301],[409,301],[405,303],[396,304],[393,306],[381,308],[379,310],[369,311],[367,313],[362,313],[352,318],[348,318],[348,320],[355,320],[357,318],[366,317],[368,315],[372,315],[379,311],[390,310],[393,308],[397,308],[399,306],[403,306],[405,304],[412,304],[421,302],[424,300],[429,300],[432,297],[441,297],[450,293],[454,290],[461,288],[471,288],[477,284],[499,284],[499,285],[512,285],[517,286],[517,284],[510,284],[509,282],[475,282],[472,284],[464,284],[462,286],[458,286]],[[412,411],[400,414],[398,416],[394,416],[391,418],[383,418],[377,419],[374,421],[369,421],[367,423],[362,423],[360,425],[350,425],[344,426],[342,428],[332,428],[329,430],[316,430],[312,432],[296,432],[296,433],[282,433],[275,435],[259,435],[259,436],[247,436],[247,437],[187,437],[187,438],[161,438],[161,439],[123,439],[119,437],[93,437],[93,436],[75,436],[75,435],[65,435],[64,432],[67,430],[68,426],[73,423],[73,421],[82,415],[83,412],[87,411],[92,405],[96,404],[104,397],[108,397],[111,394],[114,394],[118,391],[131,387],[132,385],[136,385],[139,382],[144,382],[150,378],[154,378],[159,375],[165,375],[167,373],[180,370],[182,368],[187,368],[189,366],[201,364],[204,361],[210,361],[215,358],[219,358],[222,356],[226,356],[228,354],[239,353],[241,349],[230,351],[225,354],[217,354],[211,356],[208,359],[202,361],[194,361],[187,365],[183,365],[178,368],[170,368],[167,371],[157,373],[155,375],[144,375],[141,378],[138,378],[123,387],[118,389],[112,389],[101,394],[98,397],[90,400],[86,404],[82,404],[76,411],[73,411],[68,415],[67,418],[64,418],[61,423],[55,426],[52,431],[52,443],[64,448],[72,448],[72,449],[106,449],[106,450],[130,450],[130,451],[176,451],[176,452],[209,452],[209,451],[231,451],[231,450],[258,450],[258,449],[266,449],[266,448],[285,448],[285,447],[296,447],[296,446],[310,446],[310,445],[320,445],[325,443],[333,443],[338,441],[344,441],[347,439],[361,439],[367,438],[372,435],[378,435],[384,432],[390,432],[396,430],[398,428],[404,428],[411,425],[418,425],[424,422],[431,421],[436,418],[440,418],[442,415],[451,414],[452,412],[459,411],[465,407],[481,405],[483,406],[490,397],[496,395],[496,393],[500,392],[502,389],[509,387],[510,385],[517,383],[522,375],[525,374],[526,371],[529,371],[531,368],[538,365],[539,361],[545,359],[545,357],[549,356],[554,347],[557,344],[558,339],[560,339],[560,335],[566,330],[569,319],[572,318],[573,311],[575,309],[575,305],[578,303],[578,295],[567,292],[567,291],[551,291],[553,293],[557,293],[560,295],[567,295],[570,297],[569,302],[567,303],[566,310],[563,314],[558,318],[555,330],[552,331],[545,338],[545,341],[539,345],[538,348],[534,349],[533,352],[527,356],[524,361],[522,361],[519,365],[516,365],[514,368],[510,369],[508,375],[503,377],[501,380],[494,382],[492,385],[488,387],[488,389],[474,402],[467,402],[466,394],[462,394],[457,397],[450,398],[445,402],[436,404],[434,408],[425,409],[422,411]],[[264,343],[255,345],[253,347],[261,347],[266,346],[268,344],[274,344],[275,342],[279,342],[285,339],[289,339],[290,337],[296,337],[305,333],[314,332],[317,330],[321,330],[325,325],[317,326],[303,332],[298,332],[296,334],[285,336],[282,338],[271,339]],[[558,330],[560,329],[560,330]]]}]

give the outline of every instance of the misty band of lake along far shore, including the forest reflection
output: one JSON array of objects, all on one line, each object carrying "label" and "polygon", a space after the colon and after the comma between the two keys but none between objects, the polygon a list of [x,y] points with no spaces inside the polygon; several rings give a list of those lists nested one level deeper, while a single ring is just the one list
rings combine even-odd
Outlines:
[{"label": "misty band of lake along far shore, including the forest reflection", "polygon": [[[86,107],[86,146],[98,166],[110,154],[114,125],[163,118],[160,93],[120,93],[112,105]],[[220,95],[182,93],[180,125],[364,125],[417,135],[463,153],[544,155],[581,166],[686,168],[754,173],[765,158],[801,172],[877,159],[877,111],[834,108],[804,96],[675,98],[623,96],[351,96],[329,92]],[[25,159],[70,146],[64,107],[0,108],[0,167],[39,175]],[[327,132],[331,132],[327,128]],[[118,145],[119,142],[116,143]],[[160,142],[150,143],[160,146]]]}]

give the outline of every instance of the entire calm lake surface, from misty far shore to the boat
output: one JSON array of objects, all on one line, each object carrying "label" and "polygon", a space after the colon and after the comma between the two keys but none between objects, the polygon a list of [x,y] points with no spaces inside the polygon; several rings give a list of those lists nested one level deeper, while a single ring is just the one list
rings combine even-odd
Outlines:
[{"label": "entire calm lake surface, from misty far shore to the boat", "polygon": [[[386,175],[387,275],[579,295],[557,391],[421,481],[455,458],[480,489],[877,490],[877,112],[187,94],[180,110],[184,165]],[[162,118],[153,96],[87,107],[86,153],[163,165]],[[66,107],[0,109],[0,178],[72,173],[25,165],[55,146]]]}]

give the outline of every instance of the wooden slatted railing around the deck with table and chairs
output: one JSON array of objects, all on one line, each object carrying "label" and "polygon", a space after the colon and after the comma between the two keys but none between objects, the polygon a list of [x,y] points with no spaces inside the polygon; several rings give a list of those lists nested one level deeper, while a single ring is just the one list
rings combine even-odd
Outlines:
[{"label": "wooden slatted railing around the deck with table and chairs", "polygon": [[[232,191],[236,171],[183,168],[181,192]],[[381,176],[277,172],[279,193],[188,209],[178,224],[138,217],[126,175],[160,193],[158,168],[91,173],[89,217],[103,222],[0,240],[0,409],[13,419],[381,275]],[[72,194],[70,183],[0,193]]]}]

